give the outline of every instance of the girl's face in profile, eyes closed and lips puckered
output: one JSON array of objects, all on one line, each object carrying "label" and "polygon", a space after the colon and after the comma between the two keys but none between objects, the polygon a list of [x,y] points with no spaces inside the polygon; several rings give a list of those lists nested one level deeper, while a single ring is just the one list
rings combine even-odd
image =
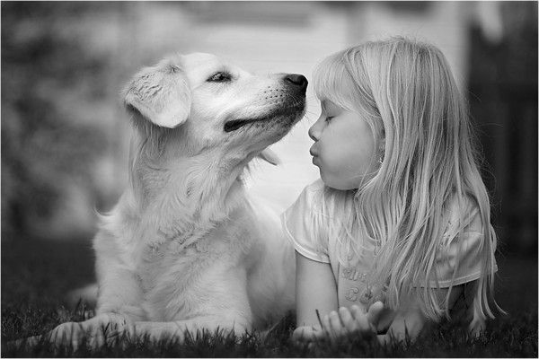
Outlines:
[{"label": "girl's face in profile, eyes closed and lips puckered", "polygon": [[357,112],[323,100],[322,113],[309,129],[309,136],[314,140],[309,152],[326,186],[358,188],[379,166],[372,130]]}]

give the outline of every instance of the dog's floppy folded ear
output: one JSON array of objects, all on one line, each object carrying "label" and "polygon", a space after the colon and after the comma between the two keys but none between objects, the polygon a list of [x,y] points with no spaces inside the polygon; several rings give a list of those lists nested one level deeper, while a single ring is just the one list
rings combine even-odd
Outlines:
[{"label": "dog's floppy folded ear", "polygon": [[177,127],[190,114],[190,85],[180,66],[165,60],[135,75],[124,104],[159,127]]}]

